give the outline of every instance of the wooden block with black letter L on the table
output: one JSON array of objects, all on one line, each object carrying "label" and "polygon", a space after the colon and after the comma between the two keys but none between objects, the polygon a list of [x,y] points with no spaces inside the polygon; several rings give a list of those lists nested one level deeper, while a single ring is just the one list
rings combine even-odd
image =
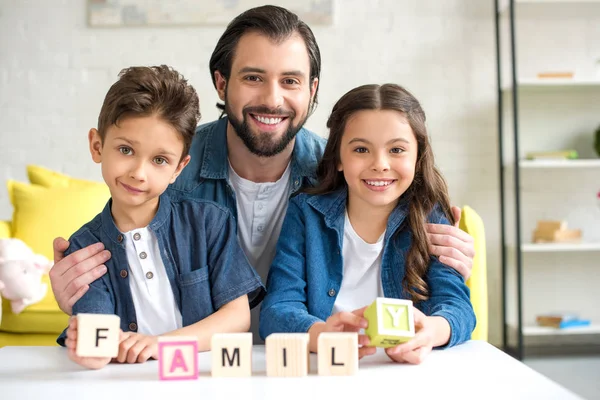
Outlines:
[{"label": "wooden block with black letter L on the table", "polygon": [[323,332],[317,348],[319,375],[354,375],[358,371],[358,333]]}]

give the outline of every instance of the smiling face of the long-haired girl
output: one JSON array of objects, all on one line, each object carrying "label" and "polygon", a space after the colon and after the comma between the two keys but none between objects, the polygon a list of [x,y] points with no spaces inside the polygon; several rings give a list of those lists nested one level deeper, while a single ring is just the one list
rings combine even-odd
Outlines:
[{"label": "smiling face of the long-haired girl", "polygon": [[352,207],[393,209],[414,179],[417,153],[417,139],[402,113],[362,110],[352,115],[338,165]]}]

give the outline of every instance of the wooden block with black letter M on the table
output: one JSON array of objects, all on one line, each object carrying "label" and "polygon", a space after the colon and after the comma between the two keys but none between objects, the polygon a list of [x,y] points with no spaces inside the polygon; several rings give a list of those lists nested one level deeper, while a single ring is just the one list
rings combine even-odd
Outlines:
[{"label": "wooden block with black letter M on the table", "polygon": [[252,376],[252,333],[218,333],[211,339],[212,376]]}]

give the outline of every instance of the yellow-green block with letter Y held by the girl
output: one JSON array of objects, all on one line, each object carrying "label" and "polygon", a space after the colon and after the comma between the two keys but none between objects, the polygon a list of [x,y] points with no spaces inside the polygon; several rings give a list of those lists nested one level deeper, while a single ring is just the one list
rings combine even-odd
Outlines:
[{"label": "yellow-green block with letter Y held by the girl", "polygon": [[369,326],[365,334],[371,346],[394,347],[415,336],[413,303],[410,300],[378,297],[365,310]]}]

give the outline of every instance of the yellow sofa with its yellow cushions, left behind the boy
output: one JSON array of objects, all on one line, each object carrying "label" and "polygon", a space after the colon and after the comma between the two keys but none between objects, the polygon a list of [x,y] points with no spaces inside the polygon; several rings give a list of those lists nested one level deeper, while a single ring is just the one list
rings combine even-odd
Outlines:
[{"label": "yellow sofa with its yellow cushions, left behind the boy", "polygon": [[[38,166],[27,166],[27,174],[30,183],[8,182],[13,220],[0,221],[0,238],[21,239],[52,260],[53,239],[68,238],[102,211],[110,192],[104,183],[73,179]],[[56,345],[69,317],[59,309],[48,275],[43,282],[48,285],[46,297],[19,314],[2,301],[0,347]]]}]

